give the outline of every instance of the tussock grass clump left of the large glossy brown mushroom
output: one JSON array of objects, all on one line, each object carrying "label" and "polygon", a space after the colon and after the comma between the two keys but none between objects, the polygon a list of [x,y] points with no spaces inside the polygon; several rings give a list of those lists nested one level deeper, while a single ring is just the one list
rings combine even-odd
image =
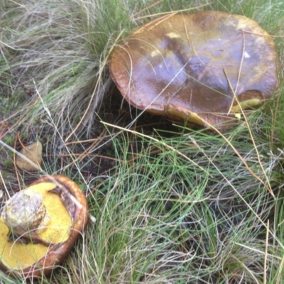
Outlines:
[{"label": "tussock grass clump left of the large glossy brown mushroom", "polygon": [[121,23],[126,30],[131,26],[130,19],[125,21],[128,3],[5,2],[0,18],[2,88],[7,97],[28,102],[24,109],[18,101],[11,108],[18,106],[18,117],[34,122],[45,117],[47,107],[67,129],[82,116],[84,122],[92,121],[109,91],[104,72],[109,50]]}]

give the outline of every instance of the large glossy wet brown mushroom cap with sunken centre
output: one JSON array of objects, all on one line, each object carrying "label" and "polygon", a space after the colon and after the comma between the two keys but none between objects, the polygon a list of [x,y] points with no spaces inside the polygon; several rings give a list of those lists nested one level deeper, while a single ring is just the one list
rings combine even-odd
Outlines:
[{"label": "large glossy wet brown mushroom cap with sunken centre", "polygon": [[245,16],[170,14],[137,28],[111,54],[111,77],[138,109],[225,129],[278,85],[275,44]]}]

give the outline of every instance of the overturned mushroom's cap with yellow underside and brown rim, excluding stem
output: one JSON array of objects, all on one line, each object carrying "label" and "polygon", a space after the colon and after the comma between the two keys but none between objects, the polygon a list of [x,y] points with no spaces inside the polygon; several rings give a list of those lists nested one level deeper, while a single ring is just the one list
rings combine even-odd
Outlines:
[{"label": "overturned mushroom's cap with yellow underside and brown rim, excluding stem", "polygon": [[9,227],[0,219],[0,268],[15,278],[50,274],[62,263],[88,222],[84,193],[69,178],[60,175],[40,178],[28,190],[43,195],[50,223],[38,230],[36,241],[31,234],[26,244],[21,236],[18,241],[9,240]]}]

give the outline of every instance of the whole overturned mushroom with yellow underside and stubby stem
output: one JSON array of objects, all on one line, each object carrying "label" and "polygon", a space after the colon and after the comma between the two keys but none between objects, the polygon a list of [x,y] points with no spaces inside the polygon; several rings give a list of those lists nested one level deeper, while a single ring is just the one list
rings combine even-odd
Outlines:
[{"label": "whole overturned mushroom with yellow underside and stubby stem", "polygon": [[69,178],[54,175],[13,195],[1,212],[0,267],[38,278],[58,266],[88,222],[87,200]]}]

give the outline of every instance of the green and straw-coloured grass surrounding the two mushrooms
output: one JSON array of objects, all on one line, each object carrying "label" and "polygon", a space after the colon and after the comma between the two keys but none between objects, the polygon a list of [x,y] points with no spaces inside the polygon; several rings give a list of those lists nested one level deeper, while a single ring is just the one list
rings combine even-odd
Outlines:
[{"label": "green and straw-coloured grass surrounding the two mushrooms", "polygon": [[[281,5],[0,0],[2,136],[16,150],[19,137],[41,141],[45,172],[75,180],[97,219],[40,283],[284,283]],[[239,13],[275,36],[280,87],[249,124],[217,133],[146,114],[133,121],[121,103],[107,67],[114,45],[184,9]],[[1,151],[4,192],[38,178],[11,178],[13,160]],[[0,272],[1,282],[26,280]]]}]

